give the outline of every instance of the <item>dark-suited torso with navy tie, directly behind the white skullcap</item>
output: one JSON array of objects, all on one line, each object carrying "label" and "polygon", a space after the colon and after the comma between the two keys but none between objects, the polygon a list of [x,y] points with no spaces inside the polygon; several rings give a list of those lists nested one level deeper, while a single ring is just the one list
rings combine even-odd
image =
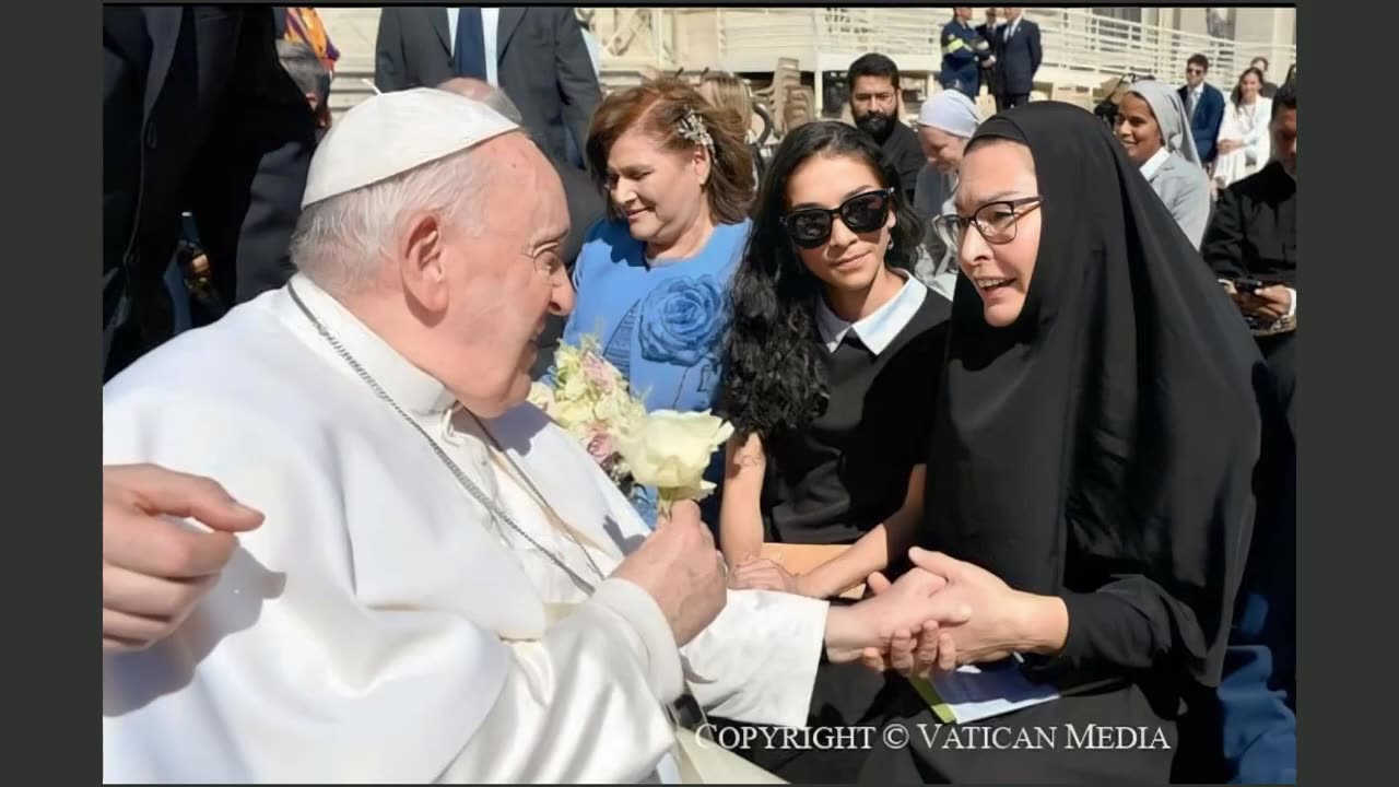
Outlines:
[{"label": "dark-suited torso with navy tie, directly behind the white skullcap", "polygon": [[588,140],[602,88],[574,8],[386,6],[379,13],[374,83],[381,91],[435,87],[452,77],[499,87],[540,147],[582,165],[576,151]]}]

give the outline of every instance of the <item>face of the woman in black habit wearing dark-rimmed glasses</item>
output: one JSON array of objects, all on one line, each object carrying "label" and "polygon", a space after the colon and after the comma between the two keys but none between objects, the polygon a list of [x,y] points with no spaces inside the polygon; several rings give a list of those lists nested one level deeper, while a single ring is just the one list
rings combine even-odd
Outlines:
[{"label": "face of the woman in black habit wearing dark-rimmed glasses", "polygon": [[996,328],[1016,322],[1025,305],[1039,253],[1038,195],[1035,160],[1020,143],[985,141],[963,158],[954,204],[975,220],[960,232],[957,263]]}]

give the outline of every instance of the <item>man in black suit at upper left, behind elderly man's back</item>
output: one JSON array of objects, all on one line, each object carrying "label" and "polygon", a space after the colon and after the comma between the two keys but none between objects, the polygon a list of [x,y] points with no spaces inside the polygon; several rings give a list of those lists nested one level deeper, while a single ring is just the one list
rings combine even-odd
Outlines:
[{"label": "man in black suit at upper left, behind elderly man's back", "polygon": [[102,7],[104,381],[173,333],[183,211],[225,302],[291,277],[313,147],[266,6]]}]

